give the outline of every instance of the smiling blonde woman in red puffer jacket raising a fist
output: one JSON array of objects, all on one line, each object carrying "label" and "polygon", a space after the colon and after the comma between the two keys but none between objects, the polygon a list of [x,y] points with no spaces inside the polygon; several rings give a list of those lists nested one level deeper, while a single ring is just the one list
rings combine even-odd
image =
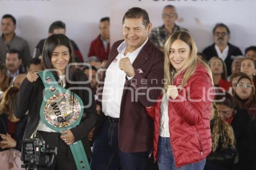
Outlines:
[{"label": "smiling blonde woman in red puffer jacket raising a fist", "polygon": [[160,170],[203,170],[212,146],[211,70],[188,32],[174,32],[164,52],[165,91],[146,108],[155,120],[154,158]]}]

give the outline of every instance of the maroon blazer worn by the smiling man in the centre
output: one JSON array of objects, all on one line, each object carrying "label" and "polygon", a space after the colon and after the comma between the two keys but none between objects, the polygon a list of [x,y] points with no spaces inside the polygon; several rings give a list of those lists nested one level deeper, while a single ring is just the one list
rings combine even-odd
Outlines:
[{"label": "maroon blazer worn by the smiling man in the centre", "polygon": [[[108,68],[116,58],[118,55],[117,47],[123,41],[120,40],[113,44],[105,68]],[[134,60],[133,68],[136,70],[135,76],[132,80],[126,79],[124,84],[124,87],[130,87],[132,90],[123,90],[118,124],[119,148],[126,153],[145,152],[152,148],[154,122],[147,114],[145,106],[150,107],[154,105],[154,101],[148,101],[146,94],[147,89],[150,87],[158,89],[148,91],[149,99],[156,100],[161,93],[164,75],[164,54],[148,39]],[[103,91],[104,80],[105,72],[100,84],[99,99],[102,97],[100,93]],[[136,91],[139,93],[138,97],[135,95]],[[132,96],[135,96],[133,97],[134,100],[132,100]],[[101,115],[101,117],[101,120],[103,120],[104,115]]]}]

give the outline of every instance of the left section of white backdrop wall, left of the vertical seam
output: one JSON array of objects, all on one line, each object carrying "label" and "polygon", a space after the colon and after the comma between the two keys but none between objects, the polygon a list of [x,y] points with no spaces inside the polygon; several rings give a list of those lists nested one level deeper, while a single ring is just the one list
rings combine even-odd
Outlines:
[{"label": "left section of white backdrop wall, left of the vertical seam", "polygon": [[16,18],[15,32],[28,41],[31,54],[39,40],[48,36],[50,24],[61,20],[66,24],[66,35],[85,58],[90,42],[99,34],[99,20],[110,16],[110,4],[110,0],[0,0],[0,16],[12,14]]}]

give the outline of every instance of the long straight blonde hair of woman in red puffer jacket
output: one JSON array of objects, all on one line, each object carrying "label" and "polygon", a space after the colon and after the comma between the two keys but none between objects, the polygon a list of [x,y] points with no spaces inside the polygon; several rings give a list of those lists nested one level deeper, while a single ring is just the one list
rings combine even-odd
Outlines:
[{"label": "long straight blonde hair of woman in red puffer jacket", "polygon": [[[173,65],[170,64],[170,48],[173,44],[174,41],[176,40],[181,40],[185,42],[189,47],[190,47],[190,55],[189,55],[189,61],[188,63],[180,69],[180,71],[176,72],[175,68]],[[208,73],[211,77],[212,81],[212,74],[211,74],[211,69],[209,66],[202,61],[201,59],[198,58],[197,56],[197,47],[195,45],[195,42],[191,35],[186,32],[186,31],[176,31],[170,37],[164,44],[164,79],[167,81],[167,83],[164,84],[164,88],[167,89],[168,85],[172,84],[172,81],[177,75],[184,73],[183,76],[183,82],[182,82],[182,87],[187,83],[189,78],[194,74],[195,69],[198,64],[203,65],[207,70]]]}]

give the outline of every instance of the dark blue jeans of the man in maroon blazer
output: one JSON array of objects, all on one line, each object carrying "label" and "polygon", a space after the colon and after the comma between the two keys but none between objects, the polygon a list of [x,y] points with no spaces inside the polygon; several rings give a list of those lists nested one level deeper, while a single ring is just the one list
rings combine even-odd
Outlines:
[{"label": "dark blue jeans of the man in maroon blazer", "polygon": [[145,170],[148,152],[124,153],[118,146],[118,123],[105,120],[92,148],[91,170]]}]

